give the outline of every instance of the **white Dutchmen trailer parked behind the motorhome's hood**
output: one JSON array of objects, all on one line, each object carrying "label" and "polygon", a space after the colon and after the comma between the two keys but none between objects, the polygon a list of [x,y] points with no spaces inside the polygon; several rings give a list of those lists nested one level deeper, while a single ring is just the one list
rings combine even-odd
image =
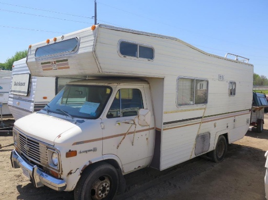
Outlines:
[{"label": "white Dutchmen trailer parked behind the motorhome's hood", "polygon": [[14,119],[41,110],[72,80],[74,79],[31,76],[26,58],[14,62],[8,97],[8,107]]}]

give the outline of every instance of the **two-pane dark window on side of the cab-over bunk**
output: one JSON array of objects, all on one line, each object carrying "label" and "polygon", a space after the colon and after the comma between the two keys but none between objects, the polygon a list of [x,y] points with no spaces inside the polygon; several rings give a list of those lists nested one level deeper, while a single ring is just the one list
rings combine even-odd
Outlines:
[{"label": "two-pane dark window on side of the cab-over bunk", "polygon": [[153,60],[153,48],[141,44],[121,41],[119,43],[119,51],[124,57],[131,56]]}]

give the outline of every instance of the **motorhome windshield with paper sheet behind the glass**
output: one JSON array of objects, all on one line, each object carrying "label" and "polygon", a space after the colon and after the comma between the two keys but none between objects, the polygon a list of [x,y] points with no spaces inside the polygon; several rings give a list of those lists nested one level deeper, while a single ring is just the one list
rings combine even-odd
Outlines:
[{"label": "motorhome windshield with paper sheet behind the glass", "polygon": [[43,111],[96,119],[102,113],[111,93],[112,88],[108,86],[66,85]]}]

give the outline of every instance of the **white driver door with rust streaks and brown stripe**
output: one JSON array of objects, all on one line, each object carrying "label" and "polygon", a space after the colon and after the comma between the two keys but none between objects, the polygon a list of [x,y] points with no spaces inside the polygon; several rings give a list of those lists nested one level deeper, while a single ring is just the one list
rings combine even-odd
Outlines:
[{"label": "white driver door with rust streaks and brown stripe", "polygon": [[103,155],[116,155],[123,172],[147,166],[152,156],[148,144],[150,128],[140,126],[137,120],[138,110],[147,108],[144,88],[142,85],[120,86],[114,95],[102,119]]}]

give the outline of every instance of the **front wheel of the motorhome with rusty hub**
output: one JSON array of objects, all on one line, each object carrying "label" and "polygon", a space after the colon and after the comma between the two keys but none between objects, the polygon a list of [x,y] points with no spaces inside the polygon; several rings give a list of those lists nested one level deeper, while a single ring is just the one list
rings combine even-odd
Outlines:
[{"label": "front wheel of the motorhome with rusty hub", "polygon": [[115,167],[107,163],[86,169],[75,188],[75,200],[112,200],[118,180]]}]

